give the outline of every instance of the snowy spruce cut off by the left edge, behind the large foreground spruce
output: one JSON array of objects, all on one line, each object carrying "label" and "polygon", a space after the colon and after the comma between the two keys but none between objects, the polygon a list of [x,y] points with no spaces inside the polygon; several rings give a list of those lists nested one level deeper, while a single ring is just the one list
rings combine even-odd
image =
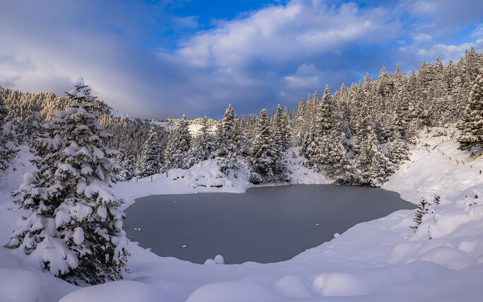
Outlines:
[{"label": "snowy spruce cut off by the left edge, behind the large foreground spruce", "polygon": [[10,166],[11,160],[18,152],[18,139],[16,123],[4,106],[4,100],[0,97],[0,170]]}]

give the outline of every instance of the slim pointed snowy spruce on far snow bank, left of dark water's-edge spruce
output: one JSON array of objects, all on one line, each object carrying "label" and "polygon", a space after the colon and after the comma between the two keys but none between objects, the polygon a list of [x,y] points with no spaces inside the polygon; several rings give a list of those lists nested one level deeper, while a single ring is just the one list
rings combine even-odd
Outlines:
[{"label": "slim pointed snowy spruce on far snow bank, left of dark water's-edge spruce", "polygon": [[218,168],[225,174],[239,169],[238,156],[242,151],[240,136],[238,117],[234,114],[232,104],[229,104],[218,124],[216,137],[216,156],[221,157],[218,161]]}]

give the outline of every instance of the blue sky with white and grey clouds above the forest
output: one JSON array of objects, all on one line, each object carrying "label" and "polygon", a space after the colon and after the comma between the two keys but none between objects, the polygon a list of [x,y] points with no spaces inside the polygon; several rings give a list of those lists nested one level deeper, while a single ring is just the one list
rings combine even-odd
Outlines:
[{"label": "blue sky with white and grey clouds above the forest", "polygon": [[143,119],[297,107],[365,73],[483,52],[483,1],[1,1],[0,85],[64,94],[83,76]]}]

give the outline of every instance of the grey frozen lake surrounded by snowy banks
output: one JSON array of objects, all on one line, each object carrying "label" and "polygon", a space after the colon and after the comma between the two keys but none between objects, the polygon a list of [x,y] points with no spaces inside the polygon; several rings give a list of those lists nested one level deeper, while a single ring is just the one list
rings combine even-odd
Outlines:
[{"label": "grey frozen lake surrounded by snowy banks", "polygon": [[266,263],[293,258],[359,222],[415,207],[398,193],[358,186],[152,195],[125,211],[124,229],[160,256],[203,263],[220,254],[227,264]]}]

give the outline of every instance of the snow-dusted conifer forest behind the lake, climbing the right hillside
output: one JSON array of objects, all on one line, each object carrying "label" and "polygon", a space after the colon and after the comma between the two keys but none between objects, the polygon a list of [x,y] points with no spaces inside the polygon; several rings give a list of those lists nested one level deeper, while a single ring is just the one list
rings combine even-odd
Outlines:
[{"label": "snow-dusted conifer forest behind the lake, climbing the right hillside", "polygon": [[[398,165],[409,159],[408,143],[424,126],[457,124],[462,148],[483,145],[483,100],[477,78],[483,54],[470,49],[457,64],[443,66],[423,61],[419,71],[403,74],[396,66],[381,69],[377,80],[369,74],[333,94],[328,87],[299,102],[290,113],[280,106],[275,114],[263,109],[258,116],[239,118],[229,106],[217,131],[208,131],[203,119],[199,135],[191,137],[189,122],[181,119],[164,151],[145,144],[141,176],[161,169],[187,169],[205,159],[217,158],[220,170],[229,173],[241,164],[251,168],[254,183],[287,179],[283,157],[290,146],[299,147],[306,167],[323,171],[339,183],[381,186]],[[147,142],[155,142],[152,138]],[[157,162],[157,163],[155,163]]]}]

